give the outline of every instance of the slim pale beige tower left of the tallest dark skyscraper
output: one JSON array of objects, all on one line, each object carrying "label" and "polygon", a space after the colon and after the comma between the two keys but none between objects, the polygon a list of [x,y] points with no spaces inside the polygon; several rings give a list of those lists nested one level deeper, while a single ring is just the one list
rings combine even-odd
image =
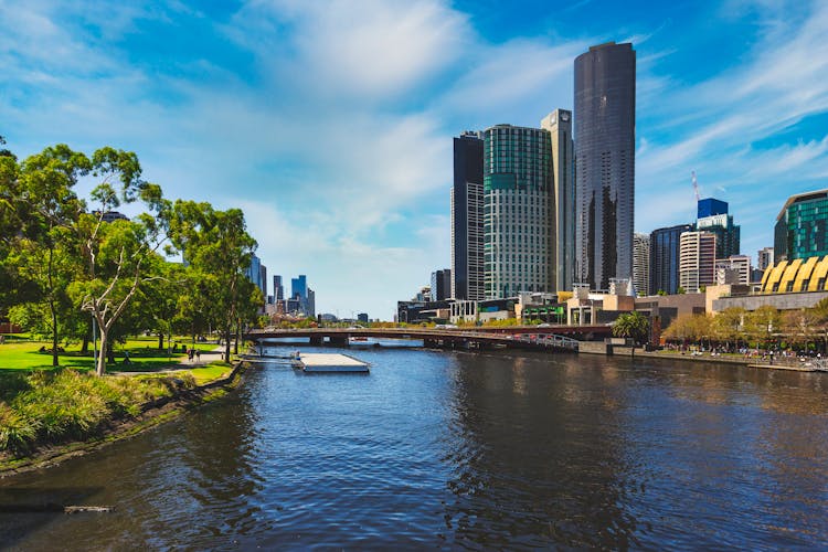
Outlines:
[{"label": "slim pale beige tower left of the tallest dark skyscraper", "polygon": [[571,291],[575,275],[575,162],[572,112],[555,109],[541,120],[541,128],[549,130],[552,141],[552,272],[555,290]]}]

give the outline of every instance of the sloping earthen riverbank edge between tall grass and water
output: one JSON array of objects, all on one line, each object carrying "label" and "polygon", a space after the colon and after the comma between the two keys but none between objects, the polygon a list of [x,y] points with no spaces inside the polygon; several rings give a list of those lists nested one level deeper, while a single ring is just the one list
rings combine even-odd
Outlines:
[{"label": "sloping earthen riverbank edge between tall grass and water", "polygon": [[[138,407],[138,413],[104,422],[94,434],[84,439],[39,443],[24,454],[0,453],[0,478],[33,471],[61,464],[70,458],[83,456],[104,446],[140,435],[166,422],[226,395],[237,388],[243,380],[247,364],[236,362],[222,376],[208,382],[184,386],[174,372],[166,378],[174,385],[169,396],[149,400]],[[119,375],[124,378],[124,375]]]}]

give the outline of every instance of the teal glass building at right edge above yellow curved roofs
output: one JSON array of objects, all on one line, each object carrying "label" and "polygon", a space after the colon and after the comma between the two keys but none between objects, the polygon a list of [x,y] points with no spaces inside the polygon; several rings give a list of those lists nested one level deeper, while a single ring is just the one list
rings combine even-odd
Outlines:
[{"label": "teal glass building at right edge above yellow curved roofs", "polygon": [[774,261],[822,255],[828,255],[828,190],[792,195],[776,217]]}]

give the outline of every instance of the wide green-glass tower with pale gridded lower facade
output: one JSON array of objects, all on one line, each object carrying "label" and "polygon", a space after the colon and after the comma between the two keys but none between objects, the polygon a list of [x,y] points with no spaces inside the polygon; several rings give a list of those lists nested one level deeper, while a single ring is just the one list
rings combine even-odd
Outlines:
[{"label": "wide green-glass tower with pale gridded lower facade", "polygon": [[549,131],[497,125],[485,132],[486,298],[553,291],[554,195]]}]

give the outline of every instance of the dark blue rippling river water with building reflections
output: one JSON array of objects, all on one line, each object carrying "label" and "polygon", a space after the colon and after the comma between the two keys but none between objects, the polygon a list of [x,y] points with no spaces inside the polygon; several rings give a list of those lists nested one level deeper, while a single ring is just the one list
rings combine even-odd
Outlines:
[{"label": "dark blue rippling river water with building reflections", "polygon": [[369,375],[254,368],[225,400],[0,480],[6,510],[116,507],[0,513],[0,543],[828,548],[828,374],[587,354],[350,353],[371,363]]}]

